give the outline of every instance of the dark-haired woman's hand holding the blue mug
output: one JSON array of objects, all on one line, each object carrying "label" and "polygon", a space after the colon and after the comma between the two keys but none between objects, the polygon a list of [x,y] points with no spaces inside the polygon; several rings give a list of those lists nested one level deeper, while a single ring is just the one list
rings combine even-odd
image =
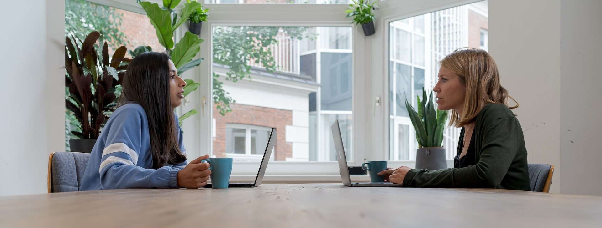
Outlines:
[{"label": "dark-haired woman's hand holding the blue mug", "polygon": [[188,163],[184,169],[178,172],[178,187],[181,188],[200,188],[207,184],[211,170],[209,163],[201,163],[203,159],[209,158],[209,155],[198,157]]}]

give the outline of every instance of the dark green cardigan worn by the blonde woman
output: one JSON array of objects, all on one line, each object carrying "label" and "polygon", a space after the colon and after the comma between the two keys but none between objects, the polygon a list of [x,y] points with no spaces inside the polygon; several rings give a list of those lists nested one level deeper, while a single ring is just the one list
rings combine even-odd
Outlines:
[{"label": "dark green cardigan worn by the blonde woman", "polygon": [[471,140],[475,143],[476,165],[432,171],[411,169],[403,186],[530,190],[523,129],[506,105],[483,107]]}]

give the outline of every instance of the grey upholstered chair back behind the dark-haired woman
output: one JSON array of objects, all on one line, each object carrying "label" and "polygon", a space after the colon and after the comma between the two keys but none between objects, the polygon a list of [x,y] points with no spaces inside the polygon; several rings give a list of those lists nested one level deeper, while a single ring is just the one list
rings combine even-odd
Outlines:
[{"label": "grey upholstered chair back behind the dark-haired woman", "polygon": [[52,152],[48,158],[48,193],[79,191],[90,154]]}]

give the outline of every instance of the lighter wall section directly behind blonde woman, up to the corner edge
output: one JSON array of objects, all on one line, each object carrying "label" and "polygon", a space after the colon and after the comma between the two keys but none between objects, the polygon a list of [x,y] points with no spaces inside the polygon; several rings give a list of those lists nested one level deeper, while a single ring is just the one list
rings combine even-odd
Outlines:
[{"label": "lighter wall section directly behind blonde woman, up to the corner edge", "polygon": [[560,1],[490,0],[489,53],[520,107],[529,163],[556,166],[560,191]]}]

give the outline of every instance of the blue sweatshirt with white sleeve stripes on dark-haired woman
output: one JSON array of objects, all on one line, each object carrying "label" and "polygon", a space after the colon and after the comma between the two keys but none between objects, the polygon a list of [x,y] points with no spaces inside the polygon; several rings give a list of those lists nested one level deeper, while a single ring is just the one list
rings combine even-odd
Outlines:
[{"label": "blue sweatshirt with white sleeve stripes on dark-haired woman", "polygon": [[[177,116],[175,122],[179,148],[185,153]],[[146,112],[140,104],[125,104],[113,112],[96,140],[79,190],[178,188],[178,172],[186,164],[153,169]]]}]

